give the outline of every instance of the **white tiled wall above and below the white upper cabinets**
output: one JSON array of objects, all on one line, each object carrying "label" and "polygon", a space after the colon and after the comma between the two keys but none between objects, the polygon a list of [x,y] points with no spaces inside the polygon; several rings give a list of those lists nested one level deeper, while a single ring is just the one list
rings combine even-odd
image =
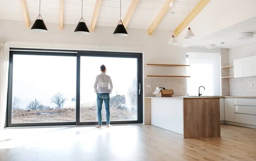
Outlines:
[{"label": "white tiled wall above and below the white upper cabinets", "polygon": [[[239,47],[230,48],[229,61],[233,65],[234,59],[240,59],[256,55],[256,42]],[[230,75],[234,75],[233,68],[230,68]],[[253,84],[253,87],[250,86]],[[231,96],[256,96],[256,76],[244,78],[230,78]]]}]

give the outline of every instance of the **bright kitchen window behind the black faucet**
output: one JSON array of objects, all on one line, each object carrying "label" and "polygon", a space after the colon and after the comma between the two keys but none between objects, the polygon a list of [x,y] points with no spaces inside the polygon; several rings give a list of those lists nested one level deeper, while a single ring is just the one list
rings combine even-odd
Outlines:
[{"label": "bright kitchen window behind the black faucet", "polygon": [[187,79],[189,96],[198,96],[198,88],[202,96],[221,96],[221,65],[219,53],[189,52],[188,68],[190,78]]}]

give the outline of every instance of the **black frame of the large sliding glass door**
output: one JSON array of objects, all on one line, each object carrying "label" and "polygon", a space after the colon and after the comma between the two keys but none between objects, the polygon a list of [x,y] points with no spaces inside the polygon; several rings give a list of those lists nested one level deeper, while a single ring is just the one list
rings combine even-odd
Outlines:
[{"label": "black frame of the large sliding glass door", "polygon": [[[76,56],[76,121],[74,122],[42,122],[42,123],[18,123],[12,124],[12,75],[13,75],[13,55],[45,55],[45,56]],[[56,50],[56,49],[31,49],[31,48],[10,48],[9,60],[9,80],[8,80],[8,98],[7,98],[7,127],[24,126],[52,126],[52,125],[95,125],[96,121],[80,122],[80,59],[81,56],[97,57],[119,57],[119,58],[137,58],[137,82],[138,91],[138,109],[136,121],[111,121],[111,124],[139,124],[143,123],[143,55],[142,53],[131,52],[112,52],[112,51],[78,51],[78,50]],[[106,124],[103,121],[102,124]]]}]

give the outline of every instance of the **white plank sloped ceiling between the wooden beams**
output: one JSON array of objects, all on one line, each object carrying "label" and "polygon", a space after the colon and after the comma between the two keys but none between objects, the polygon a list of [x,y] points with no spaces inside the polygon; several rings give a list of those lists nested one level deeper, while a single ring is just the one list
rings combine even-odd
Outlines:
[{"label": "white plank sloped ceiling between the wooden beams", "polygon": [[[189,0],[189,10],[200,0]],[[119,0],[103,0],[96,26],[113,26],[119,21]],[[122,0],[122,20],[132,0]],[[140,0],[128,28],[148,29],[166,0]],[[39,0],[26,0],[30,21],[39,12]],[[90,25],[96,0],[83,1],[83,17]],[[172,22],[172,12],[175,12]],[[160,22],[157,30],[175,30],[188,15],[188,0],[176,0],[172,8]],[[59,23],[59,0],[41,0],[41,16],[46,23]],[[64,24],[77,24],[81,18],[81,0],[64,0]],[[20,0],[0,0],[0,20],[23,21]]]}]

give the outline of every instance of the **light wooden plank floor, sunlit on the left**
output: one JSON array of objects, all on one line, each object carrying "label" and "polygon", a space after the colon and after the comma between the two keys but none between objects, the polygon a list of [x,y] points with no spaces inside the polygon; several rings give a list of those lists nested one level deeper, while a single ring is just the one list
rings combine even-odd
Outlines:
[{"label": "light wooden plank floor, sunlit on the left", "polygon": [[151,125],[7,129],[0,161],[256,161],[256,129],[189,138]]}]

